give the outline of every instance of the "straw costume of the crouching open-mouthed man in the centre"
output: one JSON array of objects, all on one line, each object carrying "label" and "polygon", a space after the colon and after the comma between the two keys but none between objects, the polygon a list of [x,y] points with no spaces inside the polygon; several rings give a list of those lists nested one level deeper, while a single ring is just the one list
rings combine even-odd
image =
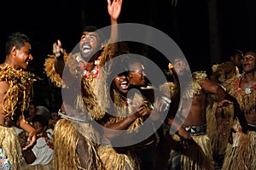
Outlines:
[{"label": "straw costume of the crouching open-mouthed man in the centre", "polygon": [[[110,66],[110,68],[113,67]],[[113,69],[115,69],[115,67]],[[108,102],[111,100],[110,95],[112,94],[108,93],[108,89],[110,87],[108,87],[108,83],[106,81],[111,72],[112,71],[109,70],[109,68],[101,70],[99,80],[96,82],[96,87],[99,87],[98,91],[96,92],[96,95],[102,99],[102,103],[100,103],[100,105],[102,106],[102,108],[105,108],[106,111],[108,111],[109,108],[113,108],[113,105],[116,106],[116,110],[113,110],[115,111],[115,116],[105,116],[105,122],[115,123],[124,120],[125,117],[130,116],[132,112],[131,102],[127,101],[128,99],[121,96],[118,90],[114,88],[113,105],[111,105]],[[143,96],[141,94],[135,93],[133,97],[134,98],[132,101],[137,101],[138,104],[140,104],[143,100]],[[137,119],[134,122],[131,122],[131,125],[126,129],[126,131],[136,136],[137,133],[139,132],[139,126],[143,125],[143,122],[146,120],[146,118],[148,117],[137,117]],[[145,139],[143,142],[127,147],[113,147],[111,144],[102,144],[98,148],[98,154],[101,157],[102,163],[104,164],[104,167],[106,167],[107,170],[138,170],[140,169],[140,159],[137,157],[135,151],[142,150],[143,147],[155,147],[155,142],[155,136],[153,134],[148,139]]]}]

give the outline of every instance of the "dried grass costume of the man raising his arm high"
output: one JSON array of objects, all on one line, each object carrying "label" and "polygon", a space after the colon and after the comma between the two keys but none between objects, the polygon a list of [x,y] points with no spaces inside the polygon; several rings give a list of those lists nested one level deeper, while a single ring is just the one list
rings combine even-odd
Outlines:
[{"label": "dried grass costume of the man raising his arm high", "polygon": [[[55,169],[84,169],[81,167],[77,148],[79,140],[84,140],[88,146],[89,158],[86,169],[92,169],[96,165],[97,169],[105,169],[102,166],[102,161],[97,154],[97,147],[100,142],[100,132],[90,123],[91,121],[101,122],[105,111],[98,105],[95,88],[96,79],[102,65],[112,59],[116,54],[111,53],[111,45],[106,45],[103,50],[97,52],[93,59],[94,67],[91,71],[85,70],[85,65],[79,63],[82,59],[81,54],[67,54],[64,51],[63,59],[67,65],[65,77],[60,77],[55,71],[55,56],[49,55],[45,59],[45,72],[51,82],[54,82],[57,87],[62,87],[64,93],[69,97],[65,102],[65,107],[75,105],[75,112],[61,114],[62,119],[55,124],[53,133],[55,156],[53,165]],[[126,50],[125,46],[119,46],[119,51]],[[64,70],[65,71],[65,70]],[[65,74],[65,73],[63,73]],[[80,81],[73,81],[72,77],[81,77]],[[72,84],[71,94],[69,93],[70,83]],[[78,84],[75,84],[78,83]],[[80,84],[79,84],[80,83]],[[77,87],[81,87],[81,89]],[[66,90],[67,89],[67,90]],[[67,94],[66,94],[67,93]],[[86,114],[88,113],[88,114]]]}]

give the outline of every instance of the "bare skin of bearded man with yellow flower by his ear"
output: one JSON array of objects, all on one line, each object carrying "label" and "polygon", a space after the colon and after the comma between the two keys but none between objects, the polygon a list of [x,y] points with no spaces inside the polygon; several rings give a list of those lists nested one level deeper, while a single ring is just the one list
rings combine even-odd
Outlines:
[{"label": "bare skin of bearded man with yellow flower by his ear", "polygon": [[[189,65],[184,59],[175,59],[174,63],[174,71],[178,76],[183,77],[189,75],[187,71],[189,71]],[[177,79],[175,79],[177,80]],[[185,126],[201,126],[205,125],[206,120],[206,105],[207,105],[207,94],[217,94],[218,99],[223,102],[223,105],[231,105],[230,100],[224,100],[227,97],[227,93],[224,91],[224,88],[216,83],[212,82],[208,79],[204,79],[200,82],[201,86],[201,94],[196,95],[192,99],[191,105],[186,100],[183,100],[183,106],[181,110],[181,115],[185,116],[186,119],[183,122]],[[166,119],[166,122],[173,127],[177,128],[178,135],[186,140],[191,140],[191,136],[189,133],[183,129],[177,122],[174,122],[172,116]]]}]

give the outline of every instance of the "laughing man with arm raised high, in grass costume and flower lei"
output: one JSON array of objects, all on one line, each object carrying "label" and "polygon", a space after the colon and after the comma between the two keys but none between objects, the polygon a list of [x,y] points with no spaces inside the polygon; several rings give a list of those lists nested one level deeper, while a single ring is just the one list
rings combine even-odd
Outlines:
[{"label": "laughing man with arm raised high, in grass costume and flower lei", "polygon": [[104,169],[96,153],[99,132],[90,121],[99,121],[105,114],[97,105],[95,83],[102,65],[118,53],[117,43],[113,42],[117,42],[119,36],[121,6],[122,0],[108,0],[109,40],[95,26],[87,26],[70,54],[58,40],[53,44],[53,54],[45,60],[47,76],[57,87],[62,87],[64,104],[53,134],[55,169]]}]

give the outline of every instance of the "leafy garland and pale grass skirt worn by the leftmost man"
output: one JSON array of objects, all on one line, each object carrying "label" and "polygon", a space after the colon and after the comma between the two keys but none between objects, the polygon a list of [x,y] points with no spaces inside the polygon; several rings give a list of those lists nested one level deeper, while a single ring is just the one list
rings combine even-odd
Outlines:
[{"label": "leafy garland and pale grass skirt worn by the leftmost man", "polygon": [[[0,81],[9,83],[9,90],[3,99],[3,110],[5,116],[10,116],[15,123],[28,109],[35,78],[29,71],[15,70],[9,64],[0,66]],[[21,148],[14,127],[0,126],[0,147],[8,157],[11,168],[20,170]]]}]

